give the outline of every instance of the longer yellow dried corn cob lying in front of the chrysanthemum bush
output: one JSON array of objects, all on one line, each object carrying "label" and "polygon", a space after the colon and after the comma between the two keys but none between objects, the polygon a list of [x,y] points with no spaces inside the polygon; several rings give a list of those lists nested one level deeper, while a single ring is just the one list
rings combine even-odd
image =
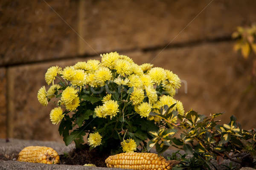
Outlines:
[{"label": "longer yellow dried corn cob lying in front of the chrysanthemum bush", "polygon": [[179,162],[166,161],[155,153],[120,153],[105,160],[107,167],[133,170],[171,170]]}]

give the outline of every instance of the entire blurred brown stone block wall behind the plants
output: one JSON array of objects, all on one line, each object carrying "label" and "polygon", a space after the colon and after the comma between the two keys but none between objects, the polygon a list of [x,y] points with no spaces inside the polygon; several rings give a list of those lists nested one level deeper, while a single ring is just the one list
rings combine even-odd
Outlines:
[{"label": "entire blurred brown stone block wall behind the plants", "polygon": [[231,37],[256,22],[255,9],[255,0],[1,0],[0,138],[61,142],[53,106],[37,100],[47,68],[111,51],[177,74],[185,111],[256,127],[255,55],[241,57]]}]

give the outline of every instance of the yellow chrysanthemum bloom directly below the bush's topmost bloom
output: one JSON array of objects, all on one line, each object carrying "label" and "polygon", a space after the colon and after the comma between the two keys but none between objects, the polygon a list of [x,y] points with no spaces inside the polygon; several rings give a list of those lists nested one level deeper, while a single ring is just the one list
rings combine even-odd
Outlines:
[{"label": "yellow chrysanthemum bloom directly below the bush's topmost bloom", "polygon": [[95,71],[94,75],[95,75],[94,79],[97,85],[99,86],[104,86],[105,82],[107,80],[111,80],[112,78],[112,73],[110,69],[106,67],[99,68],[99,70]]}]

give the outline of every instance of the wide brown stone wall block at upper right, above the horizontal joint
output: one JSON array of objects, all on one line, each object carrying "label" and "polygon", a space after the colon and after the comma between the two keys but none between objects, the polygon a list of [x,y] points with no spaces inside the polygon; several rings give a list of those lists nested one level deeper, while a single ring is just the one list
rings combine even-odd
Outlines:
[{"label": "wide brown stone wall block at upper right, above the horizontal joint", "polygon": [[[101,52],[227,37],[256,20],[255,1],[209,2],[87,0],[81,3],[80,34]],[[81,41],[80,53],[94,54],[86,42]]]}]

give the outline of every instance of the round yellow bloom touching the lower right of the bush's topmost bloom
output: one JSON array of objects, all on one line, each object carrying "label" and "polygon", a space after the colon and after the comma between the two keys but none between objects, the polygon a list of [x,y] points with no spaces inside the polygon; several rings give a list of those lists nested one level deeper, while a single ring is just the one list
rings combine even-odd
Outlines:
[{"label": "round yellow bloom touching the lower right of the bush's topmost bloom", "polygon": [[124,59],[116,60],[114,69],[116,69],[116,73],[120,74],[121,76],[129,76],[133,72],[131,69],[131,63]]}]

